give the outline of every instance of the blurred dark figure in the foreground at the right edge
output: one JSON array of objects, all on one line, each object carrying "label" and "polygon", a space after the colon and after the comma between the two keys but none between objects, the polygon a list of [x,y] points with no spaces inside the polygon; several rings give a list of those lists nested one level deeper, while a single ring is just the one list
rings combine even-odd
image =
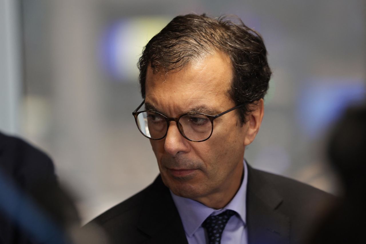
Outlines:
[{"label": "blurred dark figure in the foreground at the right edge", "polygon": [[366,103],[348,108],[336,123],[327,148],[343,196],[330,207],[308,243],[365,243]]}]

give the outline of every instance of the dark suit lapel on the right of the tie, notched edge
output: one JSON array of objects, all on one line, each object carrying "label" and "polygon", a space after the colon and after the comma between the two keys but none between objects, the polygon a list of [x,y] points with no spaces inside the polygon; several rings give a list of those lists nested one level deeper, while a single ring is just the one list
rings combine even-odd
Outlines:
[{"label": "dark suit lapel on the right of the tie, notched edge", "polygon": [[249,244],[290,243],[290,219],[276,208],[283,199],[261,177],[261,172],[248,166],[247,226]]}]

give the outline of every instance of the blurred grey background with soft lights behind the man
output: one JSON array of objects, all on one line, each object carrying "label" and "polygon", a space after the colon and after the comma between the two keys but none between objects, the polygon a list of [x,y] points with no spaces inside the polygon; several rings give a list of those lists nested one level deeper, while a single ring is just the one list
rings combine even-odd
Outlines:
[{"label": "blurred grey background with soft lights behind the man", "polygon": [[174,16],[236,14],[273,70],[246,159],[337,194],[324,142],[366,94],[366,3],[264,0],[0,0],[0,130],[55,162],[83,223],[150,184],[158,167],[134,122],[137,61]]}]

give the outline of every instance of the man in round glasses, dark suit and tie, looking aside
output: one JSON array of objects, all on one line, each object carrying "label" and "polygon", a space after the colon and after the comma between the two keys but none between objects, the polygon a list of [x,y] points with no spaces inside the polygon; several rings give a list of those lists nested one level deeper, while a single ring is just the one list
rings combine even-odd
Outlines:
[{"label": "man in round glasses, dark suit and tie, looking aside", "polygon": [[92,221],[112,243],[299,243],[326,194],[243,160],[264,115],[266,54],[241,21],[205,15],[178,16],[149,41],[133,114],[160,175]]}]

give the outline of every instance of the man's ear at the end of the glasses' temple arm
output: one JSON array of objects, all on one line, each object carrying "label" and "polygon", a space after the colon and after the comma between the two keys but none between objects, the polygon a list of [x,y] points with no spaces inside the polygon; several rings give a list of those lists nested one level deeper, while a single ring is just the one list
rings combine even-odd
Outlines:
[{"label": "man's ear at the end of the glasses' temple arm", "polygon": [[247,133],[244,140],[244,146],[249,145],[254,141],[255,136],[261,127],[263,115],[264,115],[264,100],[260,99],[249,105],[249,114],[245,127],[247,127]]}]

